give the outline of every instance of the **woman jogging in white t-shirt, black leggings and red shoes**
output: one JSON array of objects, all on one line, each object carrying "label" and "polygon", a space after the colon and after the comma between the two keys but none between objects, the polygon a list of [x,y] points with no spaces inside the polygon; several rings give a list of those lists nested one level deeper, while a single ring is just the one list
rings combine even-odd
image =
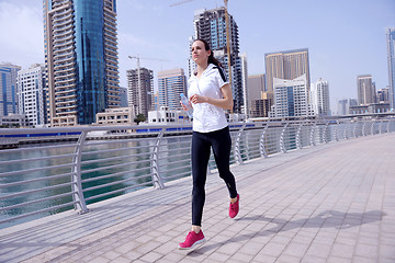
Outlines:
[{"label": "woman jogging in white t-shirt, black leggings and red shoes", "polygon": [[[192,58],[198,68],[189,80],[188,98],[193,106],[192,134],[192,229],[179,249],[188,250],[205,242],[202,214],[205,201],[204,185],[211,148],[219,172],[229,191],[229,217],[239,210],[239,195],[236,191],[235,176],[229,170],[232,139],[225,110],[233,108],[233,96],[221,64],[213,56],[208,44],[196,39],[192,44]],[[187,110],[185,106],[183,106]]]}]

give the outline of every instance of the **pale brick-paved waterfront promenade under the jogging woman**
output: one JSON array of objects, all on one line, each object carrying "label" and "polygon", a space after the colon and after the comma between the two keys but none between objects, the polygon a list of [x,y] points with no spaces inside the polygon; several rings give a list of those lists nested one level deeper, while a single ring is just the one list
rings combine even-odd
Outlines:
[{"label": "pale brick-paved waterfront promenade under the jogging woman", "polygon": [[0,230],[0,262],[395,262],[395,134],[359,137],[233,165],[240,213],[208,175],[207,242],[190,229],[191,179]]}]

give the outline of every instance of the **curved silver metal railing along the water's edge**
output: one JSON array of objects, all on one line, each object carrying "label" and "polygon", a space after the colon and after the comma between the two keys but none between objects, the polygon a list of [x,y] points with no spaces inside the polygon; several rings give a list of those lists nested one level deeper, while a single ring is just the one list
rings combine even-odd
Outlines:
[{"label": "curved silver metal railing along the water's edge", "polygon": [[[229,128],[230,163],[242,164],[391,133],[395,118],[230,123]],[[0,227],[72,208],[88,213],[94,202],[189,176],[191,133],[190,124],[0,129],[0,141],[16,138],[20,145],[0,150]]]}]

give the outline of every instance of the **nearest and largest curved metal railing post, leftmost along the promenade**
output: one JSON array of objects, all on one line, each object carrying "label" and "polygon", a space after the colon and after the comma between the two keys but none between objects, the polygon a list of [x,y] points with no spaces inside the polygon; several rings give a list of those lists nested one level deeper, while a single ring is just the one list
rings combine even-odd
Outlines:
[{"label": "nearest and largest curved metal railing post, leftmost along the promenade", "polygon": [[77,147],[75,150],[75,156],[72,158],[72,175],[71,175],[71,191],[72,191],[72,199],[75,203],[75,209],[79,210],[80,214],[88,213],[87,204],[83,197],[82,191],[82,178],[81,178],[81,157],[82,157],[82,148],[87,138],[87,132],[81,132],[80,137],[77,141]]}]

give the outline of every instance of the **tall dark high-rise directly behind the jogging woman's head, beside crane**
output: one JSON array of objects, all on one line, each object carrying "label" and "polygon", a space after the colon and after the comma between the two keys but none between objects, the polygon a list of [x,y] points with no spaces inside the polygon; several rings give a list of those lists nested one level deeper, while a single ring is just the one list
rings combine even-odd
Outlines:
[{"label": "tall dark high-rise directly behind the jogging woman's head, beside crane", "polygon": [[[232,76],[234,112],[241,113],[244,106],[241,59],[239,57],[238,26],[229,14],[230,70],[228,69],[225,8],[196,10],[194,20],[194,38],[205,39],[216,59],[223,65],[227,76]],[[192,59],[192,58],[191,58]]]}]

